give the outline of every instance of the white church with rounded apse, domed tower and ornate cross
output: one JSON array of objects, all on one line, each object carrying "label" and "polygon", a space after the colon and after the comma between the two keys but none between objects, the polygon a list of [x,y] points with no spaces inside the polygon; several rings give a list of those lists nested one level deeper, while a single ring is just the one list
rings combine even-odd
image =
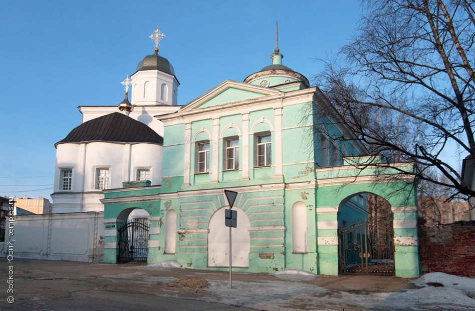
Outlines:
[{"label": "white church with rounded apse, domed tower and ornate cross", "polygon": [[[158,27],[150,37],[158,43]],[[158,55],[158,45],[130,78],[122,82],[126,95],[119,107],[79,106],[81,125],[55,144],[53,213],[104,211],[102,190],[120,188],[124,181],[161,184],[163,123],[155,116],[180,108],[180,84],[173,66]]]}]

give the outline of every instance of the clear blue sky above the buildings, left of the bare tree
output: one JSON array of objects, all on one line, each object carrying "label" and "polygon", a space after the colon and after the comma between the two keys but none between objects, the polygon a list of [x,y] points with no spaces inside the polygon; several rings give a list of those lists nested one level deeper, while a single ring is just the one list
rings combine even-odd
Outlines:
[{"label": "clear blue sky above the buildings, left of the bare tree", "polygon": [[[178,3],[178,5],[176,5]],[[80,124],[80,105],[117,105],[126,77],[159,54],[184,105],[220,82],[271,64],[275,21],[283,64],[312,80],[351,38],[357,0],[3,1],[0,4],[0,195],[50,198],[56,149]]]}]

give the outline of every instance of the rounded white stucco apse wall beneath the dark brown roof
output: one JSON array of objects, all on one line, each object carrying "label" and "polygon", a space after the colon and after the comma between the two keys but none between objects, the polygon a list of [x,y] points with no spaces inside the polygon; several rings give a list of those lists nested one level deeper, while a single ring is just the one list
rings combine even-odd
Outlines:
[{"label": "rounded white stucco apse wall beneath the dark brown roof", "polygon": [[[96,170],[109,169],[109,189],[136,180],[137,169],[150,169],[152,185],[161,184],[162,146],[148,143],[65,143],[56,151],[53,213],[103,211]],[[72,169],[71,190],[62,190],[61,170]]]}]

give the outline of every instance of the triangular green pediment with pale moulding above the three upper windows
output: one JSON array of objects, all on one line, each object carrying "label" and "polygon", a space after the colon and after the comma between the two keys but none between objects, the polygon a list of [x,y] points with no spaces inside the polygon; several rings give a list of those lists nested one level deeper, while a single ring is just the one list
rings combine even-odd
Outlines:
[{"label": "triangular green pediment with pale moulding above the three upper windows", "polygon": [[228,103],[246,101],[280,93],[280,91],[274,89],[226,80],[188,103],[181,111],[221,106]]}]

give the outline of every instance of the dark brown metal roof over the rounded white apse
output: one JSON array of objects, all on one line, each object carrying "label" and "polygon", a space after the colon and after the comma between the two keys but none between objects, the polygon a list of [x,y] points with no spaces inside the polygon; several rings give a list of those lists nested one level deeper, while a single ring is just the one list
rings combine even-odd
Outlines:
[{"label": "dark brown metal roof over the rounded white apse", "polygon": [[152,143],[163,145],[163,137],[147,125],[122,113],[114,112],[84,122],[55,144],[80,142]]}]

